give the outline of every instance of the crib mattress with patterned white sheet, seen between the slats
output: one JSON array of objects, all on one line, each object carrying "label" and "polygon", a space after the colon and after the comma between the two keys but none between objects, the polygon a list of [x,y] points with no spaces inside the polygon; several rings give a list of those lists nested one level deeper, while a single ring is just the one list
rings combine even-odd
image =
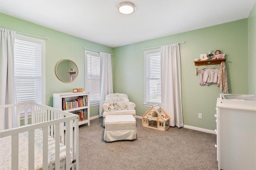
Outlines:
[{"label": "crib mattress with patterned white sheet, seen between the slats", "polygon": [[[43,167],[43,139],[42,130],[35,129],[34,158],[35,169],[42,170]],[[55,139],[48,136],[48,169],[55,168]],[[70,151],[70,156],[72,153]],[[0,138],[0,169],[11,169],[11,136]],[[28,132],[19,134],[19,169],[28,169]],[[66,146],[60,143],[60,169],[66,169]]]}]

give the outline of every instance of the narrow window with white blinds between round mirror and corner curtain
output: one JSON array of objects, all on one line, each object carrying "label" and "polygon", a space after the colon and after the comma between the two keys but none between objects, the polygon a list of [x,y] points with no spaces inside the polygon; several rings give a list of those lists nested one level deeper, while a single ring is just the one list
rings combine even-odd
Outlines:
[{"label": "narrow window with white blinds between round mirror and corner curtain", "polygon": [[100,54],[85,51],[86,90],[90,92],[90,104],[100,103]]}]

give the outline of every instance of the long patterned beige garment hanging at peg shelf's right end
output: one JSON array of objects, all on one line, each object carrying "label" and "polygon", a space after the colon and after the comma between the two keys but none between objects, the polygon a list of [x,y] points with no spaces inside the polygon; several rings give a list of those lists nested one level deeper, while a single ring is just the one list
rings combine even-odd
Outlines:
[{"label": "long patterned beige garment hanging at peg shelf's right end", "polygon": [[228,74],[226,64],[223,61],[220,63],[217,86],[220,87],[220,91],[228,93]]}]

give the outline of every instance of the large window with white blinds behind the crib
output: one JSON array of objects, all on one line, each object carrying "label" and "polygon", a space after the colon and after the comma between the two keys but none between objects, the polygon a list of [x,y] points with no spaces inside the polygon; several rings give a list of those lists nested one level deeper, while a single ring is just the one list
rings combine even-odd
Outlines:
[{"label": "large window with white blinds behind the crib", "polygon": [[24,35],[15,36],[14,76],[17,103],[45,104],[44,46],[44,40]]}]

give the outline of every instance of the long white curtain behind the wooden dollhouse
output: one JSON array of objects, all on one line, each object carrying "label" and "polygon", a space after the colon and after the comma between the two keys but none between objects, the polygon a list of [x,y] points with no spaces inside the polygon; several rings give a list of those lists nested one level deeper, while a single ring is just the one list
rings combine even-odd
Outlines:
[{"label": "long white curtain behind the wooden dollhouse", "polygon": [[162,108],[170,117],[170,126],[183,127],[178,43],[161,47],[161,94]]}]

